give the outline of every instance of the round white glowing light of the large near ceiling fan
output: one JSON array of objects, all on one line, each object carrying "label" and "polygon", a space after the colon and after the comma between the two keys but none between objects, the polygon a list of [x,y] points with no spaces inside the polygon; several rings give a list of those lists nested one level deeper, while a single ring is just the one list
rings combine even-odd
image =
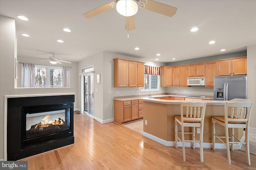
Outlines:
[{"label": "round white glowing light of the large near ceiling fan", "polygon": [[138,4],[134,0],[118,0],[116,10],[123,16],[133,16],[138,12]]}]

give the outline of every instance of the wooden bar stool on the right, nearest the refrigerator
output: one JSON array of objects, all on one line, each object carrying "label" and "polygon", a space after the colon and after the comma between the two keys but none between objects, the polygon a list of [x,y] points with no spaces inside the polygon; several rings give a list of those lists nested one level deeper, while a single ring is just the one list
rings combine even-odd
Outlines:
[{"label": "wooden bar stool on the right, nearest the refrigerator", "polygon": [[[231,164],[230,149],[234,150],[233,144],[243,144],[245,146],[246,161],[248,165],[251,164],[248,129],[250,127],[251,108],[252,102],[226,102],[224,116],[212,116],[212,149],[215,150],[215,138],[218,138],[226,145],[229,164]],[[225,127],[225,136],[216,135],[215,123]],[[228,128],[231,128],[231,137],[229,137]],[[234,128],[245,128],[244,142],[241,142],[236,136],[234,136]],[[223,138],[226,139],[226,143],[222,140]],[[236,138],[236,142],[234,142],[234,138]],[[231,139],[231,142],[229,142],[229,139]]]}]

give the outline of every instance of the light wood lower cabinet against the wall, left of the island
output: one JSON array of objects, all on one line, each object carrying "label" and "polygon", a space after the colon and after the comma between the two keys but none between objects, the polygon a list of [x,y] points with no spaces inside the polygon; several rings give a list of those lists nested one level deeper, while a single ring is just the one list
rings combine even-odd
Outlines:
[{"label": "light wood lower cabinet against the wall, left of the island", "polygon": [[114,122],[123,124],[141,118],[143,118],[143,100],[126,102],[114,100]]}]

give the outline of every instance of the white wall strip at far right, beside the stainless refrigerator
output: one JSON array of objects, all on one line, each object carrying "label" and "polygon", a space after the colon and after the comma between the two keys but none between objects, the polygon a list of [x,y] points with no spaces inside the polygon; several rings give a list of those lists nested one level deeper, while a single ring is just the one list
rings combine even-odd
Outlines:
[{"label": "white wall strip at far right, beside the stainless refrigerator", "polygon": [[247,47],[247,98],[254,102],[250,130],[256,132],[256,45]]}]

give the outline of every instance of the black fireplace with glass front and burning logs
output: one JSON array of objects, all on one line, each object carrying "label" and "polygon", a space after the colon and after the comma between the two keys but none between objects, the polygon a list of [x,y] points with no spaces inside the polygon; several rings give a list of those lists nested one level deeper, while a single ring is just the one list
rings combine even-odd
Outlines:
[{"label": "black fireplace with glass front and burning logs", "polygon": [[8,98],[7,160],[74,144],[74,95]]}]

